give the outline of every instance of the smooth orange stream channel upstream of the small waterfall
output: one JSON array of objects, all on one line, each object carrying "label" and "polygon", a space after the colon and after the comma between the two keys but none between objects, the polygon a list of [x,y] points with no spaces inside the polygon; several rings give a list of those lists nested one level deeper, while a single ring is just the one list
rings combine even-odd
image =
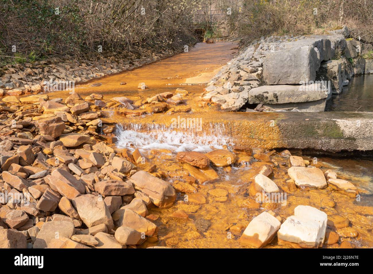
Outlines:
[{"label": "smooth orange stream channel upstream of the small waterfall", "polygon": [[[225,65],[232,59],[233,53],[237,52],[236,48],[237,44],[233,42],[197,43],[195,47],[189,48],[188,52],[182,52],[131,71],[120,72],[91,80],[87,84],[77,85],[75,92],[84,96],[100,93],[104,95],[104,99],[117,96],[126,96],[129,99],[137,99],[137,96],[146,98],[166,91],[175,92],[178,87],[187,87],[191,93],[201,93],[204,86],[180,84],[184,83],[186,78],[212,73],[220,66]],[[213,75],[211,74],[209,79]],[[120,85],[121,82],[126,82],[126,85]],[[149,88],[138,89],[140,82],[144,82]],[[94,83],[102,85],[92,87],[91,85]]]}]

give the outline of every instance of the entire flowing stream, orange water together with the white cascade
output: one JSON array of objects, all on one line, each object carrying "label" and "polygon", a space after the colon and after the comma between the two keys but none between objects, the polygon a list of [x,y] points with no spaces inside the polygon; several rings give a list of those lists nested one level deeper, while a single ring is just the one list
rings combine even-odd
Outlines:
[{"label": "entire flowing stream, orange water together with the white cascade", "polygon": [[[229,62],[237,51],[236,47],[237,45],[234,43],[199,43],[187,53],[169,57],[133,71],[110,75],[79,85],[75,91],[82,96],[100,93],[104,95],[104,99],[126,96],[136,100],[151,97],[165,91],[174,92],[176,88],[184,88],[189,91],[187,103],[192,105],[192,99],[202,93],[204,85],[185,85],[182,83],[208,81],[219,70],[220,66]],[[364,81],[372,77],[369,76]],[[360,105],[355,103],[352,104],[352,101],[355,101],[355,97],[350,95],[353,87],[356,88],[352,93],[357,93],[359,77],[356,79],[356,81],[351,81],[350,90],[343,93],[340,99],[333,99],[332,102],[335,108],[339,108],[338,102],[341,102],[341,106],[345,105],[342,102],[342,98],[350,102],[348,103],[350,105],[348,110],[356,110],[360,107]],[[98,82],[102,85],[99,87],[91,86],[93,83]],[[120,85],[121,82],[126,82],[126,85]],[[145,82],[149,88],[144,91],[138,90],[137,85],[140,82]],[[364,87],[366,91],[359,93],[360,98],[366,100],[364,108],[361,109],[362,111],[373,110],[368,103],[369,98],[372,99],[372,97],[369,97],[372,96],[372,86],[370,84]],[[364,97],[363,93],[365,94]],[[68,94],[63,92],[50,95],[51,97],[63,98],[68,96]],[[361,100],[359,102],[361,103]],[[372,102],[372,100],[369,102]],[[213,108],[201,109],[192,105],[192,111],[204,111],[201,116],[209,115],[216,117],[216,120],[222,117],[222,114],[214,111]],[[187,150],[209,152],[212,149],[221,149],[225,146],[231,148],[237,144],[237,140],[229,133],[223,122],[212,123],[207,128],[199,128],[198,124],[194,124],[196,126],[193,128],[176,129],[160,123],[160,121],[169,119],[167,113],[155,113],[154,115],[134,118],[123,118],[116,115],[115,112],[107,112],[106,114],[118,122],[116,147],[131,151],[140,149],[148,159],[146,165],[156,165],[155,172],[168,174],[163,179],[173,185],[178,183],[178,181],[183,182],[183,176],[188,175],[183,164],[176,160],[177,152]],[[229,115],[229,113],[225,115]],[[265,115],[263,113],[263,116]],[[263,152],[263,150],[254,148],[254,152]],[[282,219],[292,215],[297,205],[314,206],[325,211],[328,214],[328,219],[349,220],[347,228],[335,228],[332,224],[328,226],[328,230],[342,234],[358,233],[357,237],[345,235],[341,240],[348,240],[356,247],[373,247],[372,161],[326,157],[320,157],[315,161],[311,156],[302,155],[304,160],[310,162],[310,165],[317,166],[323,171],[332,169],[337,172],[338,178],[351,181],[358,188],[361,195],[360,201],[357,201],[354,197],[329,188],[324,190],[289,189],[288,183],[286,183],[286,180],[289,180],[287,174],[288,159],[279,156],[279,151],[267,153],[266,155],[270,156],[270,162],[266,162],[266,160],[258,161],[252,156],[240,153],[238,155],[238,164],[232,166],[231,169],[214,168],[219,175],[218,178],[202,184],[191,183],[191,190],[188,189],[185,193],[178,193],[178,199],[171,208],[150,208],[149,212],[153,217],[155,216],[154,219],[156,220],[154,222],[159,227],[159,234],[158,237],[148,239],[141,247],[248,247],[240,245],[237,240],[248,223],[264,210],[253,205],[252,198],[248,194],[253,170],[263,164],[273,166],[273,174],[270,175],[270,178],[287,193],[286,204],[274,209]],[[273,164],[273,162],[277,165]],[[144,168],[147,166],[144,166]],[[188,197],[191,198],[196,193],[206,198],[206,202],[189,202]],[[173,217],[172,214],[178,210],[188,214],[188,218]],[[325,248],[338,246],[338,244],[324,245]],[[265,246],[265,248],[283,247],[292,246],[279,244],[276,237]]]}]

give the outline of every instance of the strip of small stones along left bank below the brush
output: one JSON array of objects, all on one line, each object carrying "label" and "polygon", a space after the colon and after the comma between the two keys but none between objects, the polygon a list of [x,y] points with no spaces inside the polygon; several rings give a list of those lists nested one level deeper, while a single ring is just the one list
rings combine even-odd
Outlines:
[{"label": "strip of small stones along left bank below the brush", "polygon": [[[0,96],[18,96],[21,94],[44,91],[45,82],[87,82],[104,75],[130,70],[160,60],[181,50],[133,49],[131,52],[108,53],[96,56],[97,60],[70,60],[54,58],[33,63],[8,64],[2,68],[0,78]],[[61,85],[62,87],[62,85]]]}]

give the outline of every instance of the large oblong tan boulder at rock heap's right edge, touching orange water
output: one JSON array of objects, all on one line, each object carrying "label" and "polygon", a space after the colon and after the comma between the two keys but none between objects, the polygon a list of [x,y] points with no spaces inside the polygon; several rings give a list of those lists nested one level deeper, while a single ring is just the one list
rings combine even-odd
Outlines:
[{"label": "large oblong tan boulder at rock heap's right edge, touching orange water", "polygon": [[151,202],[160,208],[170,207],[176,200],[175,189],[166,181],[154,177],[148,172],[142,170],[136,172],[131,176],[131,182],[136,189],[147,194]]}]

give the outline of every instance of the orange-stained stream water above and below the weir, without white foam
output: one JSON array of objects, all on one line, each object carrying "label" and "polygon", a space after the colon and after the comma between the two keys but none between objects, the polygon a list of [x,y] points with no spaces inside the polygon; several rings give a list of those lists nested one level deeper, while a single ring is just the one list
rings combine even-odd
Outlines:
[{"label": "orange-stained stream water above and below the weir, without white foam", "polygon": [[[180,85],[186,78],[195,77],[202,73],[211,73],[225,65],[232,59],[237,51],[235,43],[198,43],[187,53],[181,53],[132,71],[126,71],[115,75],[96,79],[86,84],[75,87],[75,91],[84,98],[91,93],[104,95],[104,99],[126,96],[132,100],[145,99],[158,93],[170,91],[176,88],[184,88],[190,95],[199,95],[204,85]],[[120,85],[126,82],[126,85]],[[148,89],[139,90],[140,82],[145,82]],[[101,83],[98,87],[92,87],[93,83]],[[172,85],[168,85],[172,84]],[[59,91],[50,93],[50,97],[68,96],[67,92]],[[191,96],[192,97],[192,96]],[[204,110],[201,110],[204,111]],[[217,112],[211,114],[217,115]],[[164,118],[165,113],[156,113],[144,119],[148,122],[150,117],[154,119]],[[207,115],[207,113],[205,114]],[[235,114],[236,115],[236,114]],[[217,116],[218,117],[218,116]],[[137,118],[138,122],[139,118]],[[141,119],[140,119],[141,120]],[[185,134],[188,134],[186,129]],[[138,147],[141,149],[141,147]],[[134,148],[132,148],[134,149]],[[185,172],[181,163],[176,161],[176,153],[166,149],[144,149],[144,154],[151,164],[156,164],[156,171],[166,171],[170,177],[164,180],[175,183],[182,181]],[[178,193],[178,199],[171,208],[150,208],[149,213],[156,215],[154,222],[159,227],[157,238],[148,239],[141,247],[169,246],[169,247],[215,247],[215,248],[239,248],[250,247],[239,244],[238,239],[248,223],[266,209],[253,208],[249,201],[248,189],[251,183],[253,165],[260,164],[251,156],[240,155],[242,166],[232,168],[226,172],[222,168],[214,168],[219,175],[216,180],[193,184],[195,192],[206,198],[206,203],[192,203],[186,201],[185,195],[193,193]],[[286,158],[278,155],[270,155],[271,160],[286,162]],[[303,157],[312,163],[313,158]],[[257,164],[255,164],[257,162]],[[313,164],[311,164],[313,165]],[[334,231],[340,235],[339,242],[334,245],[324,245],[324,248],[338,248],[343,240],[351,242],[355,247],[373,247],[372,222],[373,222],[373,162],[354,159],[319,158],[317,167],[324,172],[332,169],[337,172],[338,178],[351,181],[359,190],[361,200],[346,195],[344,192],[330,188],[324,190],[289,189],[286,180],[288,164],[274,168],[269,177],[287,194],[286,205],[279,206],[274,211],[286,219],[294,213],[297,205],[314,206],[327,213],[327,231]],[[184,182],[185,183],[185,182]],[[178,210],[188,214],[187,219],[172,217]],[[345,227],[336,227],[345,226]],[[342,225],[341,225],[342,224]],[[265,248],[292,247],[287,243],[278,243],[277,237],[267,244]]]}]

